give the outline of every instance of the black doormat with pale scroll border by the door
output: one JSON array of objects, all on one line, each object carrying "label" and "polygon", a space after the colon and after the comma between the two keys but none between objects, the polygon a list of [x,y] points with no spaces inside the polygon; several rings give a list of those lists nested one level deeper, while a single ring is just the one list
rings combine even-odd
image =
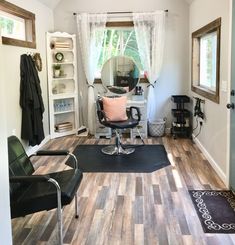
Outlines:
[{"label": "black doormat with pale scroll border by the door", "polygon": [[205,233],[235,233],[235,197],[231,191],[189,191]]}]

